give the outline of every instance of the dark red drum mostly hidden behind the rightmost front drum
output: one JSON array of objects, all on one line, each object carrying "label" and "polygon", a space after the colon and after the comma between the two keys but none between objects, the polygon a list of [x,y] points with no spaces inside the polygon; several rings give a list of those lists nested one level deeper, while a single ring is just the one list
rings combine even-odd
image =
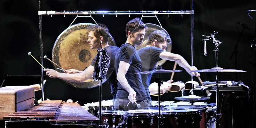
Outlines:
[{"label": "dark red drum mostly hidden behind the rightmost front drum", "polygon": [[164,109],[167,110],[184,110],[184,109],[195,109],[200,110],[200,115],[202,116],[202,120],[200,120],[200,128],[206,128],[207,127],[207,116],[206,116],[206,110],[207,107],[204,105],[177,105],[177,106],[167,106],[164,107]]}]

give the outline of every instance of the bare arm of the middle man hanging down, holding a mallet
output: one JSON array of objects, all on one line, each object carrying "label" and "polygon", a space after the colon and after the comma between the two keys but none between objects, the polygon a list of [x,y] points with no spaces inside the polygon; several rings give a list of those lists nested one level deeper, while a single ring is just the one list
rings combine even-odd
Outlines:
[{"label": "bare arm of the middle man hanging down, holding a mallet", "polygon": [[132,101],[136,101],[136,92],[132,89],[132,87],[128,84],[127,79],[125,78],[125,74],[127,73],[128,69],[130,67],[130,64],[124,61],[120,61],[119,68],[117,71],[117,77],[116,79],[119,81],[119,83],[124,87],[124,89],[129,92],[128,99]]}]

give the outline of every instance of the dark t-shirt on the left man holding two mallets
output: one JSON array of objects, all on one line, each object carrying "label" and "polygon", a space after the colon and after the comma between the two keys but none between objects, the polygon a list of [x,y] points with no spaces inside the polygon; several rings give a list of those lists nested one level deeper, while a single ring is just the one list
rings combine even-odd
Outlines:
[{"label": "dark t-shirt on the left man holding two mallets", "polygon": [[[115,56],[116,56],[116,51],[118,47],[110,45],[105,47],[104,49],[107,51],[108,56],[110,57],[110,64],[106,74],[106,79],[108,81],[108,84],[110,85],[111,94],[113,95],[113,98],[116,99],[117,80],[116,80]],[[92,60],[91,65],[93,67],[95,66],[96,60],[97,60],[97,55]]]}]

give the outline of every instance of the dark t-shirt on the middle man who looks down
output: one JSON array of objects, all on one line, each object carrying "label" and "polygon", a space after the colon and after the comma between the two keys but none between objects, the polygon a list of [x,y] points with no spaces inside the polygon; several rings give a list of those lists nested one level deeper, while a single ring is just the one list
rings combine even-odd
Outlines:
[{"label": "dark t-shirt on the middle man who looks down", "polygon": [[[136,49],[132,44],[126,43],[116,52],[116,74],[119,68],[120,61],[124,61],[130,64],[130,67],[125,74],[128,84],[136,92],[136,100],[146,100],[148,99],[146,89],[142,84],[142,79],[140,74],[135,74],[141,72],[141,61]],[[127,99],[129,93],[123,88],[123,86],[118,82],[116,98]]]}]

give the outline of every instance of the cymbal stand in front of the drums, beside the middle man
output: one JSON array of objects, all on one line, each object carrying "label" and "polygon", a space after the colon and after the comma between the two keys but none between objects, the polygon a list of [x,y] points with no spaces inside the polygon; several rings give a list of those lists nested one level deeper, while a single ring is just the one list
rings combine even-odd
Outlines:
[{"label": "cymbal stand in front of the drums, beside the middle man", "polygon": [[[158,66],[156,69],[162,69],[162,67]],[[158,85],[158,128],[161,128],[161,104],[160,104],[160,86],[163,84],[163,81],[161,81],[160,73],[158,73],[158,77],[155,79],[155,82]]]}]

